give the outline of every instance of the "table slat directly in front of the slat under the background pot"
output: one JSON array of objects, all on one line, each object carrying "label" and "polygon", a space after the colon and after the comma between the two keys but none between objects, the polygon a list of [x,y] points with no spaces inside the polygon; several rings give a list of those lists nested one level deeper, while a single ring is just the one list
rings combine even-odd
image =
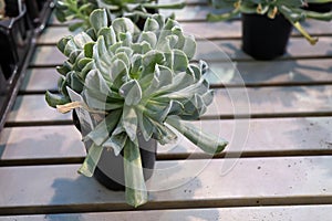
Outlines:
[{"label": "table slat directly in front of the slat under the background pot", "polygon": [[[211,73],[207,74],[207,77],[212,86],[331,84],[332,82],[330,74],[332,59],[238,62],[236,67],[239,74],[229,72],[234,66],[222,62],[209,62],[209,67]],[[58,91],[59,76],[54,67],[29,69],[20,91],[21,93]]]}]

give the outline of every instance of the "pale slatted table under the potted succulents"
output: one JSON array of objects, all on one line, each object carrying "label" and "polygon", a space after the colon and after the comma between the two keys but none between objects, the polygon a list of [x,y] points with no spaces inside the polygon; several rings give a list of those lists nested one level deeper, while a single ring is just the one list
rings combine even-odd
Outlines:
[{"label": "pale slatted table under the potted succulents", "polygon": [[[186,139],[176,148],[158,147],[156,168],[174,168],[157,170],[149,187],[188,181],[152,191],[148,203],[136,210],[125,203],[123,192],[77,175],[85,156],[81,135],[70,114],[44,102],[44,92],[56,90],[54,67],[64,61],[55,44],[70,34],[52,19],[0,134],[1,221],[332,219],[331,23],[305,24],[320,36],[317,46],[293,32],[284,56],[259,62],[240,50],[239,20],[208,23],[206,1],[188,2],[176,12],[185,31],[220,46],[246,84],[229,76],[212,78],[214,105],[195,122],[230,140],[226,151],[210,159]],[[206,42],[199,40],[198,48],[211,67],[224,67],[225,61],[211,59],[215,52]],[[250,115],[247,97],[238,96],[243,93]]]}]

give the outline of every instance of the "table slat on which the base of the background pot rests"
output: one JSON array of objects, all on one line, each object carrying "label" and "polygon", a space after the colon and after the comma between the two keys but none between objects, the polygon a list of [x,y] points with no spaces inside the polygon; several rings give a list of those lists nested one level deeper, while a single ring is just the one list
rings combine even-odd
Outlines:
[{"label": "table slat on which the base of the background pot rests", "polygon": [[[250,56],[245,54],[240,50],[241,42],[239,40],[231,41],[199,41],[197,42],[197,53],[196,59],[203,59],[206,61],[225,61],[229,60],[245,60],[253,61]],[[313,48],[304,39],[294,38],[291,39],[288,53],[284,54],[281,59],[291,59],[294,57],[319,57],[319,56],[331,56],[332,55],[332,45],[330,43],[330,38],[320,38],[320,42]],[[32,57],[32,66],[55,66],[61,65],[66,57],[52,45],[37,46],[35,54]]]}]

